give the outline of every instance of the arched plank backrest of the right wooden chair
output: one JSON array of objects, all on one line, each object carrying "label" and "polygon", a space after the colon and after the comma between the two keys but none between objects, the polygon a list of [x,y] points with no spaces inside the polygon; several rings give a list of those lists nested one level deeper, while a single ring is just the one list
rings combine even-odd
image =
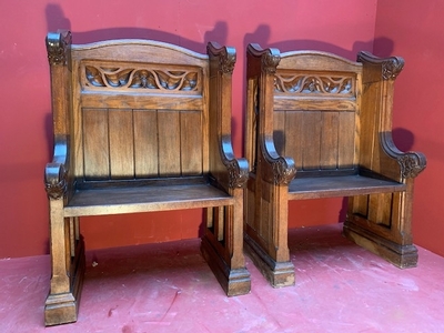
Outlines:
[{"label": "arched plank backrest of the right wooden chair", "polygon": [[276,151],[294,159],[297,176],[354,173],[360,148],[362,64],[334,54],[281,54],[274,73]]}]

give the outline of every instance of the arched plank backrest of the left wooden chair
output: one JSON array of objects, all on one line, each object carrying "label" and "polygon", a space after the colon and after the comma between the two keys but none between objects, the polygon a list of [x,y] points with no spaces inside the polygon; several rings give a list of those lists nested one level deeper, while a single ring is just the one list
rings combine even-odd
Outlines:
[{"label": "arched plank backrest of the left wooden chair", "polygon": [[64,122],[54,134],[70,137],[75,178],[208,172],[209,56],[148,40],[73,44],[68,53],[65,69],[52,73],[53,104],[69,101],[53,105],[54,121]]}]

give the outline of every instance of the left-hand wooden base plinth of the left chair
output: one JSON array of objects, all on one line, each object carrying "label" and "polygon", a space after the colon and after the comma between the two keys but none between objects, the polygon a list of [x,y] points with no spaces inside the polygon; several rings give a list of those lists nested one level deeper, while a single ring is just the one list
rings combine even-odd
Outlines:
[{"label": "left-hand wooden base plinth of the left chair", "polygon": [[44,303],[44,325],[60,325],[77,321],[79,302],[85,270],[84,243],[79,240],[75,256],[70,268],[71,291],[61,294],[49,294]]}]

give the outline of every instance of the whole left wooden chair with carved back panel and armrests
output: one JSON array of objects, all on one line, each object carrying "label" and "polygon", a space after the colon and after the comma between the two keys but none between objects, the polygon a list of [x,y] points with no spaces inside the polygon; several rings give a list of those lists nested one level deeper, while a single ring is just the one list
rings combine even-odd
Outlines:
[{"label": "whole left wooden chair with carved back panel and armrests", "polygon": [[[235,51],[149,40],[72,44],[49,33],[54,131],[46,168],[52,278],[46,324],[74,322],[82,216],[203,209],[201,251],[228,295],[250,291],[243,256],[248,162],[231,145]],[[174,221],[172,221],[174,223]]]}]

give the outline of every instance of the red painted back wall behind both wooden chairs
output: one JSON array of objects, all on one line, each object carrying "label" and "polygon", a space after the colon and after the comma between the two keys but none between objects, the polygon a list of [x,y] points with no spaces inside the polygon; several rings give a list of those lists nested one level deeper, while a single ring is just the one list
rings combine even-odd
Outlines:
[{"label": "red painted back wall behind both wooden chairs", "polygon": [[[209,40],[235,47],[233,133],[234,150],[241,157],[246,43],[283,51],[320,49],[354,59],[356,51],[373,48],[376,2],[1,1],[0,259],[48,253],[48,203],[43,190],[43,169],[52,153],[44,47],[48,30],[70,29],[74,43],[149,38],[198,52],[205,51]],[[421,130],[416,125],[408,128]],[[424,182],[418,186],[421,190]],[[418,205],[420,211],[421,202]],[[297,213],[299,219],[292,220],[291,225],[335,223],[341,206],[341,200],[292,204],[290,215]],[[81,228],[87,248],[97,249],[195,238],[200,224],[198,210],[84,219]]]}]

